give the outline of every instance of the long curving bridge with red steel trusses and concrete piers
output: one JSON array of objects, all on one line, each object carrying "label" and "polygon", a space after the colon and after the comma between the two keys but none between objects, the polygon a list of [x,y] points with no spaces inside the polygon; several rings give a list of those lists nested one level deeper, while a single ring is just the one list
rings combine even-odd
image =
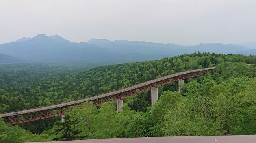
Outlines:
[{"label": "long curving bridge with red steel trusses and concrete piers", "polygon": [[11,125],[45,119],[45,118],[51,118],[51,117],[60,116],[60,115],[61,115],[61,121],[63,121],[63,115],[65,114],[67,107],[72,105],[79,105],[87,101],[93,101],[94,106],[97,106],[99,104],[102,104],[108,101],[117,101],[117,112],[119,112],[123,105],[122,99],[129,96],[133,96],[135,94],[139,94],[141,92],[148,91],[148,90],[151,90],[151,105],[154,105],[154,103],[158,100],[157,87],[160,87],[161,85],[165,85],[168,83],[172,83],[174,81],[179,81],[179,83],[184,83],[184,79],[186,78],[202,76],[206,72],[211,72],[214,69],[215,67],[210,67],[205,69],[196,69],[191,71],[179,72],[176,74],[171,74],[168,76],[157,78],[155,80],[146,81],[144,83],[127,87],[125,89],[109,92],[106,94],[101,94],[98,96],[93,96],[90,98],[70,101],[67,103],[48,105],[45,107],[20,110],[18,111],[17,114],[12,114],[13,112],[0,114],[0,118],[5,118],[6,123]]}]

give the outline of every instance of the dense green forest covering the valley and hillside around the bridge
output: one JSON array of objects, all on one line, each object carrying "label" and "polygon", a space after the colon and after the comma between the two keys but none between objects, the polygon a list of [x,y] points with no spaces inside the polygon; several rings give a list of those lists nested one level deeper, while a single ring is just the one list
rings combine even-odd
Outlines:
[{"label": "dense green forest covering the valley and hillside around the bridge", "polygon": [[100,66],[99,63],[0,65],[0,112],[63,103],[123,89],[177,72],[215,67],[212,73],[158,87],[115,102],[70,107],[60,117],[19,125],[0,119],[0,143],[150,136],[256,134],[256,56],[193,53],[161,60]]}]

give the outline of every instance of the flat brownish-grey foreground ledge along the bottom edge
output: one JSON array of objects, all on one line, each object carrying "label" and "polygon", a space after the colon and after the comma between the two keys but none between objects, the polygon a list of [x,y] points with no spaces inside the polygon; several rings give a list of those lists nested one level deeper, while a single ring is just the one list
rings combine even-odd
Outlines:
[{"label": "flat brownish-grey foreground ledge along the bottom edge", "polygon": [[256,135],[239,136],[174,136],[146,138],[87,139],[37,143],[255,143]]}]

